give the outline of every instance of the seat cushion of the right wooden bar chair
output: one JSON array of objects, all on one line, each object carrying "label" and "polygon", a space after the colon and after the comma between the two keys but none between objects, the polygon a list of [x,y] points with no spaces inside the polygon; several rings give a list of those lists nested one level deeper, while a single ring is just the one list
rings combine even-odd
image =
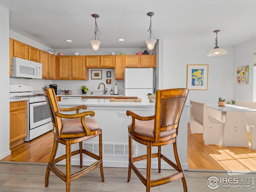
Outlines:
[{"label": "seat cushion of the right wooden bar chair", "polygon": [[[136,121],[134,132],[140,135],[148,136],[148,137],[154,137],[154,120],[149,121]],[[130,128],[131,124],[128,125],[128,128]],[[176,129],[167,130],[160,132],[160,137],[169,136],[176,133]]]}]

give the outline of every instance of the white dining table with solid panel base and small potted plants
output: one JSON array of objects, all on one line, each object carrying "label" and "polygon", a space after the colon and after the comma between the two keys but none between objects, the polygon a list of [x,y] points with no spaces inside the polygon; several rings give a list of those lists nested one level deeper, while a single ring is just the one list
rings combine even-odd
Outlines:
[{"label": "white dining table with solid panel base and small potted plants", "polygon": [[245,112],[256,111],[246,107],[226,104],[206,104],[207,107],[226,112],[222,146],[249,147],[246,129]]}]

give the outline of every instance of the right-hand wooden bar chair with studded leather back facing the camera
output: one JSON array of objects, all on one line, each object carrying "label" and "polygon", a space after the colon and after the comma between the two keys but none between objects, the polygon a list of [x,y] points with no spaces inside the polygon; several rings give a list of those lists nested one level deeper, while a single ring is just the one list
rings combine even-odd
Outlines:
[{"label": "right-hand wooden bar chair with studded leather back facing the camera", "polygon": [[[176,139],[178,135],[178,126],[180,115],[182,113],[188,89],[176,88],[166,90],[156,90],[155,115],[142,117],[128,110],[127,116],[132,116],[132,123],[128,126],[129,133],[129,167],[128,182],[131,178],[131,169],[146,186],[146,192],[150,192],[150,187],[166,184],[182,179],[184,192],[187,192],[186,180],[182,169]],[[147,152],[141,156],[132,156],[132,140],[143,144]],[[174,157],[176,163],[161,153],[161,146],[173,144]],[[152,154],[152,147],[157,146],[158,152]],[[151,158],[158,158],[158,172],[161,172],[161,159],[177,170],[176,173],[155,180],[150,179]],[[146,178],[135,166],[134,162],[146,159]]]}]

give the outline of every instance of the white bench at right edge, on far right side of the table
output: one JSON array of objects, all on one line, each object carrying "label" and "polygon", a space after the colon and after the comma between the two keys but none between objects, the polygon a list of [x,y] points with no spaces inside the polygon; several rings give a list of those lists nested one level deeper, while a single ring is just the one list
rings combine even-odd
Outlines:
[{"label": "white bench at right edge, on far right side of the table", "polygon": [[[256,102],[236,100],[236,106],[256,109]],[[245,112],[246,128],[251,133],[251,150],[256,150],[256,112]]]}]

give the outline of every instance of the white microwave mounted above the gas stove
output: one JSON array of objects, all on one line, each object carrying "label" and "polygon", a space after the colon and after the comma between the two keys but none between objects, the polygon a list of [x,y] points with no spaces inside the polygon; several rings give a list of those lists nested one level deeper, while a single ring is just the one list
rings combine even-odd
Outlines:
[{"label": "white microwave mounted above the gas stove", "polygon": [[42,64],[18,57],[12,58],[12,78],[42,79]]}]

